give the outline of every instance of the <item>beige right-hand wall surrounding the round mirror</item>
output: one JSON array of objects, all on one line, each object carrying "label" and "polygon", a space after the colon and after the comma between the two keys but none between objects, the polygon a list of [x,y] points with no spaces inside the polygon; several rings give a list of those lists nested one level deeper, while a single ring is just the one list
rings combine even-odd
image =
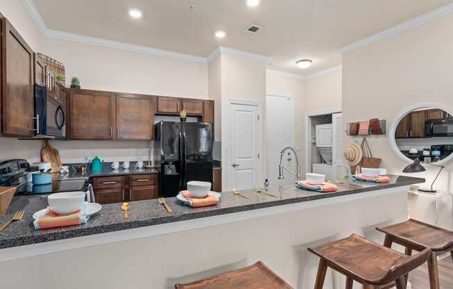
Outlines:
[{"label": "beige right-hand wall surrounding the round mirror", "polygon": [[[387,119],[387,129],[406,107],[436,103],[453,107],[453,15],[394,35],[343,56],[345,122]],[[347,142],[351,141],[347,138]],[[390,173],[401,174],[404,163],[391,149],[388,135],[370,138],[375,156]],[[411,174],[432,181],[436,168]],[[452,192],[453,163],[447,163],[436,188]]]}]

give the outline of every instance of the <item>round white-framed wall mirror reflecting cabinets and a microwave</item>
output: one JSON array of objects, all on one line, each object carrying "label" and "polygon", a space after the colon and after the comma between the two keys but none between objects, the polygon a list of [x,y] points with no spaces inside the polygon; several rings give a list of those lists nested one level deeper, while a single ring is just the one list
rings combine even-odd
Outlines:
[{"label": "round white-framed wall mirror reflecting cabinets and a microwave", "polygon": [[390,128],[393,150],[407,163],[442,164],[453,158],[453,113],[436,106],[411,108]]}]

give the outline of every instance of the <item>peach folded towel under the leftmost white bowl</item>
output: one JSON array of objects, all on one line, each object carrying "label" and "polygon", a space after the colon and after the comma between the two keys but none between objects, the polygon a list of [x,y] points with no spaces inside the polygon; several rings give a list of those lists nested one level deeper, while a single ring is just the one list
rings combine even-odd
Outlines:
[{"label": "peach folded towel under the leftmost white bowl", "polygon": [[80,210],[71,215],[58,215],[53,212],[50,208],[47,209],[47,214],[38,220],[33,221],[35,229],[50,229],[58,228],[61,226],[75,226],[85,224],[88,217],[81,214]]}]

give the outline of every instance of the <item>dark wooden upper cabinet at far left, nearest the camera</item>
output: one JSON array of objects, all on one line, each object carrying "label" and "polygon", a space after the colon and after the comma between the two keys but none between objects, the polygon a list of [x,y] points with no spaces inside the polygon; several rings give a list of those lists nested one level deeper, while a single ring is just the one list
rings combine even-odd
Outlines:
[{"label": "dark wooden upper cabinet at far left, nearest the camera", "polygon": [[1,19],[2,133],[34,135],[34,58],[31,47],[6,18]]}]

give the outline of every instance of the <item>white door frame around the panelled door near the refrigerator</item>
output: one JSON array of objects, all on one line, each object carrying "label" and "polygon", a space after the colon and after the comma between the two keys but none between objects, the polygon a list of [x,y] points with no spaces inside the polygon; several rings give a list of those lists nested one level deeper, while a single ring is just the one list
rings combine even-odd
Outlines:
[{"label": "white door frame around the panelled door near the refrigerator", "polygon": [[[232,108],[232,105],[233,104],[238,104],[238,105],[242,105],[242,106],[256,106],[256,108],[258,108],[258,115],[259,115],[259,122],[261,123],[261,125],[258,125],[258,135],[256,135],[256,140],[258,142],[258,154],[259,154],[259,158],[258,158],[258,163],[259,163],[259,166],[258,166],[258,169],[259,169],[259,172],[258,172],[258,177],[257,177],[257,180],[260,181],[260,183],[263,183],[264,179],[263,179],[263,172],[264,172],[264,163],[263,163],[263,159],[266,157],[265,154],[263,154],[263,126],[264,126],[264,123],[265,123],[265,119],[263,119],[263,102],[262,101],[252,101],[252,100],[243,100],[243,99],[229,99],[228,101],[228,135],[229,135],[229,141],[228,141],[228,147],[231,147],[231,135],[232,135],[232,131],[231,131],[231,108]],[[224,146],[222,146],[224,147]],[[223,150],[223,149],[222,149]],[[229,172],[230,172],[230,169],[231,169],[231,154],[229,154],[229,149],[227,149],[225,151],[225,154],[227,154],[227,163],[225,164],[227,166],[227,170],[225,170],[226,172],[226,180],[225,180],[225,183],[227,185],[227,190],[233,190],[233,188],[230,188],[231,187],[231,178],[229,176]],[[224,176],[222,176],[223,178]]]}]

